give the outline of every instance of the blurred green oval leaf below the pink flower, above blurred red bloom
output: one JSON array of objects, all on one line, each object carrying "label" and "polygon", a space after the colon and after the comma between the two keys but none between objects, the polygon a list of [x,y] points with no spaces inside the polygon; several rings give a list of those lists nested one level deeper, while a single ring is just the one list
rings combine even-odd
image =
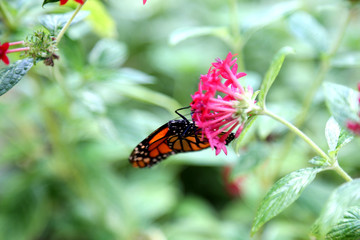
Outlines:
[{"label": "blurred green oval leaf below the pink flower, above blurred red bloom", "polygon": [[255,142],[246,146],[243,151],[240,151],[239,159],[233,167],[231,172],[232,177],[237,177],[246,173],[265,161],[269,154],[269,147],[265,143]]}]

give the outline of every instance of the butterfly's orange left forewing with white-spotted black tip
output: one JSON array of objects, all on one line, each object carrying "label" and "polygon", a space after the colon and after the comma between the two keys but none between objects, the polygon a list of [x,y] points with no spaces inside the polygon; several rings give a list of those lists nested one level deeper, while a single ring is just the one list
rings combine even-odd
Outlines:
[{"label": "butterfly's orange left forewing with white-spotted black tip", "polygon": [[129,161],[133,167],[151,167],[175,152],[168,145],[168,123],[162,125],[132,151]]}]

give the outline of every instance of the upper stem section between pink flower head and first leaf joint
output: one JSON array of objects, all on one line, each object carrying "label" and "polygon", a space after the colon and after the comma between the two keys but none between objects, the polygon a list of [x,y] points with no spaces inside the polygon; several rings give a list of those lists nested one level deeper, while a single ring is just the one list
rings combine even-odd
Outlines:
[{"label": "upper stem section between pink flower head and first leaf joint", "polygon": [[268,115],[269,117],[287,126],[293,133],[301,137],[307,144],[309,144],[314,149],[314,151],[317,152],[321,157],[325,158],[329,162],[332,162],[332,159],[323,150],[321,150],[321,148],[318,145],[316,145],[316,143],[314,143],[308,136],[306,136],[302,131],[300,131],[290,122],[268,110],[263,110],[263,114]]}]

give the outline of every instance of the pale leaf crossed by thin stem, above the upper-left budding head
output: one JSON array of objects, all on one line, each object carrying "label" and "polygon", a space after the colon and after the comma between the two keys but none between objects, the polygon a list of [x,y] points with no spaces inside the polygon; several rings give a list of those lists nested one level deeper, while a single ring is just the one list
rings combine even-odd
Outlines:
[{"label": "pale leaf crossed by thin stem, above the upper-left budding head", "polygon": [[[50,31],[51,35],[56,36],[65,26],[66,22],[71,18],[72,15],[72,12],[64,14],[42,15],[39,17],[39,22],[47,30]],[[71,22],[71,25],[84,20],[88,15],[88,11],[80,11]]]}]

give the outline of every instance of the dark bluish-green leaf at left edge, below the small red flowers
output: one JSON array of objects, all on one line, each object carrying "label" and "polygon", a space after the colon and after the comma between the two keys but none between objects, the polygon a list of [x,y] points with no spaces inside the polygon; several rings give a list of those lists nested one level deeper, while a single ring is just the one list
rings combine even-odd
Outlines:
[{"label": "dark bluish-green leaf at left edge, below the small red flowers", "polygon": [[0,96],[17,84],[33,66],[33,59],[26,58],[0,70]]}]

